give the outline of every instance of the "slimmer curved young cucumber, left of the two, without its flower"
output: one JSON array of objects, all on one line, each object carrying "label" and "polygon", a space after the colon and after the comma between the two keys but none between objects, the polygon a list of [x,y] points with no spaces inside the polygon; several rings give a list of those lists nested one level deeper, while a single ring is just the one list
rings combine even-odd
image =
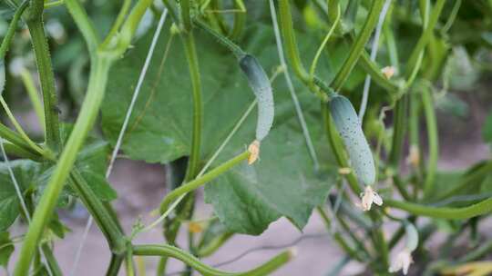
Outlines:
[{"label": "slimmer curved young cucumber, left of the two, without its flower", "polygon": [[256,140],[263,140],[273,124],[274,104],[272,85],[258,60],[251,54],[245,54],[239,61],[241,70],[258,100],[258,121],[256,123]]}]

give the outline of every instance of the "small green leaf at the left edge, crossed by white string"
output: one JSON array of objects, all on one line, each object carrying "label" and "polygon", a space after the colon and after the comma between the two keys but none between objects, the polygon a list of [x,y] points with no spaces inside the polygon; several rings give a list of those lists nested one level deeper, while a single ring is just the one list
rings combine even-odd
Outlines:
[{"label": "small green leaf at the left edge, crossed by white string", "polygon": [[[40,169],[37,163],[26,160],[11,161],[21,192],[36,183]],[[0,163],[0,232],[4,232],[15,221],[20,212],[20,202],[15,192],[15,185],[8,173],[5,163]]]}]

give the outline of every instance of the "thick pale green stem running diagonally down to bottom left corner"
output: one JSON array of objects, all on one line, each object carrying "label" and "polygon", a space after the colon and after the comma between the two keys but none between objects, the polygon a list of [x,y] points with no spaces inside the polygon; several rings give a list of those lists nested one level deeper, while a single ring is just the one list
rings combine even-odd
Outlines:
[{"label": "thick pale green stem running diagonally down to bottom left corner", "polygon": [[33,215],[21,253],[19,254],[19,260],[15,265],[15,276],[28,274],[30,262],[36,251],[36,244],[56,207],[58,195],[63,189],[68,174],[75,163],[77,152],[96,121],[97,112],[104,97],[108,81],[109,65],[110,60],[107,56],[100,56],[93,60],[86,98],[82,104],[74,129],[68,138],[67,145],[56,163],[55,171],[51,175],[37,205],[36,212]]}]

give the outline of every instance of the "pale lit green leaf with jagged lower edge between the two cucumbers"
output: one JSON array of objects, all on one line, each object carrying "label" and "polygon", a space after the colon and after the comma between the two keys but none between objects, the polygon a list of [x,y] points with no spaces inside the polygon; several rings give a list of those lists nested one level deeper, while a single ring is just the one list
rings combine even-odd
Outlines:
[{"label": "pale lit green leaf with jagged lower edge between the two cucumbers", "polygon": [[276,127],[261,143],[257,163],[242,163],[205,186],[206,202],[229,230],[260,234],[282,216],[302,229],[326,200],[334,178],[314,173],[297,124],[292,118]]}]

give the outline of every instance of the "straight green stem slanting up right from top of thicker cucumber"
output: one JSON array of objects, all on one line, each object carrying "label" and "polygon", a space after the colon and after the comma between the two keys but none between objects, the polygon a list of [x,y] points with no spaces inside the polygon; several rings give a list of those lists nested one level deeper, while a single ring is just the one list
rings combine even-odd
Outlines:
[{"label": "straight green stem slanting up right from top of thicker cucumber", "polygon": [[332,81],[332,84],[330,84],[330,86],[333,87],[335,91],[339,91],[342,88],[343,83],[347,79],[348,75],[354,69],[354,66],[357,63],[359,56],[363,53],[364,45],[369,40],[375,26],[377,25],[379,14],[383,9],[383,5],[384,5],[384,0],[373,1],[373,4],[371,5],[371,9],[369,10],[369,15],[367,15],[367,19],[365,20],[363,29],[355,39],[354,44],[350,49],[350,53],[342,65],[342,68],[340,68],[338,74],[336,74],[335,78]]}]

